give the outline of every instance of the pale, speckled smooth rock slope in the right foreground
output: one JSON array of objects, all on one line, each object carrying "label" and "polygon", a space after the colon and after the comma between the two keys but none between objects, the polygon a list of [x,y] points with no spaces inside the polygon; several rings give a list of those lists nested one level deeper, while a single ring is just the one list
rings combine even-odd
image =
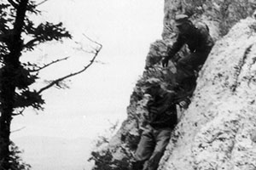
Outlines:
[{"label": "pale, speckled smooth rock slope in the right foreground", "polygon": [[160,169],[256,167],[256,19],[216,42]]}]

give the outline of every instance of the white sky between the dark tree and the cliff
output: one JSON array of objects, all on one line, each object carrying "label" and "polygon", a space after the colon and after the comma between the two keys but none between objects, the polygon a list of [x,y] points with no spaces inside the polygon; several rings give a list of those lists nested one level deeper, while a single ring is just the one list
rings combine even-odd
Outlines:
[{"label": "white sky between the dark tree and the cliff", "polygon": [[[96,63],[73,77],[69,83],[71,89],[53,88],[44,93],[45,110],[38,115],[27,110],[25,116],[15,117],[12,129],[25,128],[12,137],[96,138],[108,128],[109,122],[126,117],[132,88],[143,73],[149,45],[160,39],[164,1],[49,0],[41,8],[44,17],[40,21],[63,21],[75,40],[84,41],[81,35],[85,33],[101,42],[103,48],[98,60],[105,65]],[[69,43],[49,43],[38,48],[38,54],[49,54],[44,60],[66,56],[76,60],[44,71],[42,77],[81,68],[83,56]]]}]

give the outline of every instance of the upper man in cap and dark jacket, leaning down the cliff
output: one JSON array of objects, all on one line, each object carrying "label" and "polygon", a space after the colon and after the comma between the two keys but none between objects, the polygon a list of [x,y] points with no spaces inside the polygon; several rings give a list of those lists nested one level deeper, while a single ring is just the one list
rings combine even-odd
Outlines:
[{"label": "upper man in cap and dark jacket, leaning down the cliff", "polygon": [[173,59],[183,45],[187,44],[190,54],[177,60],[177,77],[183,79],[184,75],[195,74],[200,70],[214,42],[209,34],[208,26],[201,22],[194,25],[186,14],[176,16],[175,26],[177,27],[177,40],[172,47],[167,49],[167,56],[162,59],[162,65],[166,67],[169,59]]}]

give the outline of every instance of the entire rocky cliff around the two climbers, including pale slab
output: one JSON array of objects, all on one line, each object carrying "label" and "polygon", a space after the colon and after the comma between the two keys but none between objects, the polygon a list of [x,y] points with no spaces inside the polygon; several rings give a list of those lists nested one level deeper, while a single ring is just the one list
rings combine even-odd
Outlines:
[{"label": "entire rocky cliff around the two climbers, including pale slab", "polygon": [[[184,111],[172,133],[161,170],[256,168],[256,3],[247,1],[166,0],[162,40],[151,44],[147,65],[137,82],[128,117],[108,144],[93,152],[95,170],[129,169],[143,130],[147,99],[143,82],[149,77],[170,81],[172,71],[163,70],[160,56],[172,44],[175,14],[186,13],[193,21],[210,27],[215,46],[197,79],[189,109]],[[231,29],[230,29],[231,28]],[[180,55],[186,53],[184,48]],[[256,132],[256,131],[255,131]]]}]

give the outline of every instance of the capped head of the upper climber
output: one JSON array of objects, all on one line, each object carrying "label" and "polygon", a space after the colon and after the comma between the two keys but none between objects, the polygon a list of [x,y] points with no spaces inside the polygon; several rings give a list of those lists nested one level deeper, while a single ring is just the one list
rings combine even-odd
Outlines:
[{"label": "capped head of the upper climber", "polygon": [[193,24],[189,20],[189,16],[186,14],[177,14],[175,17],[175,26],[177,31],[180,33],[189,33],[191,31]]}]

